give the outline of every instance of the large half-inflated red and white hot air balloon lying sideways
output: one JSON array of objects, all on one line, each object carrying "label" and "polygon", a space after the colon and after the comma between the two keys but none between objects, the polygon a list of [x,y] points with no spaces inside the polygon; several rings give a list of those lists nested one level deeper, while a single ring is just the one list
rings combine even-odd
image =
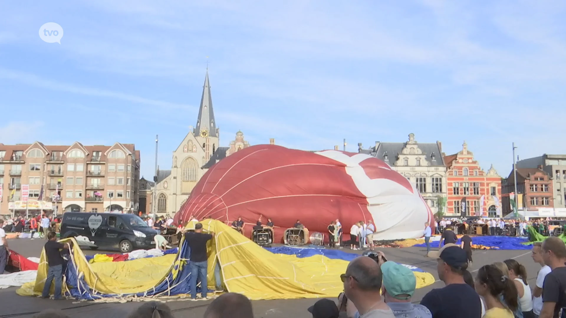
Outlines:
[{"label": "large half-inflated red and white hot air balloon lying sideways", "polygon": [[271,218],[275,242],[297,220],[311,233],[324,234],[336,219],[344,234],[355,222],[372,220],[375,240],[419,238],[424,222],[433,221],[417,189],[378,158],[277,145],[247,147],[212,166],[175,214],[175,224],[191,216],[228,224],[242,217],[251,225],[260,216],[264,225]]}]

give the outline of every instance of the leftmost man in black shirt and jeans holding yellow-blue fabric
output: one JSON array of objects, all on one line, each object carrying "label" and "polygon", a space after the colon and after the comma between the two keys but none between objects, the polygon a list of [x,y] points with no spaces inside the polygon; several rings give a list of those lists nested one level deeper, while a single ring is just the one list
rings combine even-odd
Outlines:
[{"label": "leftmost man in black shirt and jeans holding yellow-blue fabric", "polygon": [[51,290],[51,282],[55,280],[55,299],[62,299],[61,297],[61,287],[63,285],[63,257],[61,257],[61,252],[63,248],[70,248],[68,243],[64,245],[57,242],[57,234],[50,231],[47,234],[47,243],[45,243],[45,257],[47,258],[47,263],[49,269],[47,272],[47,279],[45,280],[45,285],[43,286],[43,293],[41,293],[42,298],[49,298],[49,291]]}]

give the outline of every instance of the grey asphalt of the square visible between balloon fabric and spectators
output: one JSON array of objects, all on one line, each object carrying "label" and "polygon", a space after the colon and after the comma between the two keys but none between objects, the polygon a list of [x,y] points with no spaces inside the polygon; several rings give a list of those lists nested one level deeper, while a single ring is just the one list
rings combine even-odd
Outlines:
[{"label": "grey asphalt of the square visible between balloon fabric and spectators", "polygon": [[[39,257],[41,249],[45,244],[42,239],[10,239],[8,244],[14,250],[25,257]],[[405,248],[381,248],[388,260],[397,263],[409,264],[431,273],[436,282],[430,286],[417,289],[413,295],[413,302],[419,302],[428,291],[444,286],[438,280],[436,273],[436,260],[430,259],[425,255],[426,248],[405,247]],[[347,252],[350,251],[345,248]],[[94,255],[105,251],[84,250],[87,255]],[[116,251],[109,251],[116,252]],[[471,263],[469,270],[475,277],[475,272],[483,265],[491,264],[494,261],[506,259],[516,259],[525,265],[528,273],[529,285],[534,285],[537,272],[540,268],[531,259],[529,250],[520,251],[497,251],[497,250],[477,250],[473,253],[474,262]],[[531,287],[532,288],[532,287]],[[48,308],[60,309],[70,317],[125,317],[134,308],[140,306],[138,302],[128,303],[96,303],[96,302],[77,302],[76,300],[50,300],[35,297],[19,296],[15,293],[16,287],[0,290],[0,318],[5,317],[31,317],[35,313]],[[279,300],[255,300],[252,302],[255,317],[264,318],[288,318],[288,317],[310,317],[307,308],[312,306],[317,299],[279,299]],[[168,306],[173,310],[177,317],[202,317],[208,304],[212,300],[191,301],[187,299],[168,302]]]}]

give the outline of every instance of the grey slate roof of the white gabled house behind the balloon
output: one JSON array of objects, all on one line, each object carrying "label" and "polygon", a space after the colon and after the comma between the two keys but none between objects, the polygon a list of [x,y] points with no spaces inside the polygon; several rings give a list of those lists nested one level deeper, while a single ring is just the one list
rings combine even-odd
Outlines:
[{"label": "grey slate roof of the white gabled house behind the balloon", "polygon": [[[372,148],[370,154],[380,160],[387,162],[390,166],[395,166],[395,162],[399,156],[402,156],[401,151],[405,148],[406,143],[379,143],[378,149]],[[417,143],[419,149],[426,156],[426,160],[430,162],[431,166],[444,166],[444,158],[442,157],[440,147],[436,143]],[[362,150],[362,152],[364,152]],[[364,152],[366,153],[366,152]],[[386,155],[387,154],[387,160]],[[432,154],[434,159],[432,160]]]}]

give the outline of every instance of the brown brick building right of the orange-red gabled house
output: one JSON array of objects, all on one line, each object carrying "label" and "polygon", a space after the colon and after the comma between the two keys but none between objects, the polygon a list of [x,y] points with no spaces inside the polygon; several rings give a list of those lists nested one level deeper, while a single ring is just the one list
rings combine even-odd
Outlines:
[{"label": "brown brick building right of the orange-red gabled house", "polygon": [[[517,193],[524,194],[522,204],[527,210],[538,208],[554,208],[554,187],[551,175],[543,170],[543,166],[538,168],[517,168]],[[509,204],[509,194],[515,192],[515,178],[513,170],[509,177],[505,179],[503,185],[503,211],[513,212]]]}]

